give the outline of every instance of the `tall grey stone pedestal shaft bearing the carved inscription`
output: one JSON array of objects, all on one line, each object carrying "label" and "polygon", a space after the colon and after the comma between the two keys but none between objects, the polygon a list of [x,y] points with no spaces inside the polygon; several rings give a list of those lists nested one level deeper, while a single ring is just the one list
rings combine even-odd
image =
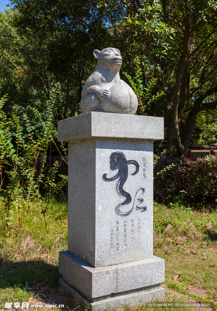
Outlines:
[{"label": "tall grey stone pedestal shaft bearing the carved inscription", "polygon": [[[93,137],[74,140],[68,151],[68,252],[93,267],[152,258],[152,142]],[[124,164],[111,170],[114,153],[129,161],[122,189],[130,199],[118,211],[116,207],[126,200],[126,194],[116,189],[124,178],[119,172]],[[138,165],[135,175],[131,161]],[[118,172],[117,179],[103,180],[104,174],[109,179]]]}]

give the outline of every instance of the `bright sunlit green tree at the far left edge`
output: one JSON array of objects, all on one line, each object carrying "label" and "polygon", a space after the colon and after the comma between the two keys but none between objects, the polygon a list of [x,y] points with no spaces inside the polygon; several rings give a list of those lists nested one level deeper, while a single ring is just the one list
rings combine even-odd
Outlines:
[{"label": "bright sunlit green tree at the far left edge", "polygon": [[15,16],[16,12],[11,9],[0,12],[0,97],[5,94],[9,96],[4,107],[7,114],[11,113],[15,102],[22,106],[29,93],[25,78],[28,67],[21,53],[25,37],[20,36],[13,26]]}]

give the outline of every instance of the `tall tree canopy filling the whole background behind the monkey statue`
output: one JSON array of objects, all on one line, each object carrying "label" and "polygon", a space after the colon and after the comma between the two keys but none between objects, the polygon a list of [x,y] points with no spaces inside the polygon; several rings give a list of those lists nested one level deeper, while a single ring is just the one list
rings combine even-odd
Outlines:
[{"label": "tall tree canopy filling the whole background behind the monkey statue", "polygon": [[13,4],[13,12],[0,15],[6,38],[0,93],[10,96],[7,113],[15,103],[47,109],[50,90],[60,82],[56,121],[79,114],[82,87],[96,65],[93,50],[113,46],[123,57],[121,78],[138,92],[137,113],[164,116],[167,149],[186,156],[197,115],[217,104],[216,1]]}]

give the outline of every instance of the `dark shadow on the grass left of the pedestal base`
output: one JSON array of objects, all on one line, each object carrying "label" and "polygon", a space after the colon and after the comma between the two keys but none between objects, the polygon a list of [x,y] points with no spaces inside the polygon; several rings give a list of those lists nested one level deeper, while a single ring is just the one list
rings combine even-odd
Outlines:
[{"label": "dark shadow on the grass left of the pedestal base", "polygon": [[21,285],[35,287],[37,283],[47,280],[52,287],[58,287],[58,266],[43,261],[3,261],[0,259],[0,288]]}]

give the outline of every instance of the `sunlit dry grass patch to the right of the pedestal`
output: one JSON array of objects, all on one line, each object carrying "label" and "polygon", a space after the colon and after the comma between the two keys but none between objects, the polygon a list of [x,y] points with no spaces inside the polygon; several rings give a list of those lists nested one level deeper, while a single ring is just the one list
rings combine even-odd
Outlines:
[{"label": "sunlit dry grass patch to the right of the pedestal", "polygon": [[[216,212],[183,207],[155,207],[154,253],[165,259],[165,283],[179,293],[210,302],[217,299],[217,216]],[[207,229],[207,223],[212,225]],[[192,222],[194,229],[188,227]],[[173,228],[165,232],[166,225]],[[173,276],[179,275],[177,280]],[[189,291],[195,286],[204,295]],[[199,293],[199,291],[198,291]]]}]

